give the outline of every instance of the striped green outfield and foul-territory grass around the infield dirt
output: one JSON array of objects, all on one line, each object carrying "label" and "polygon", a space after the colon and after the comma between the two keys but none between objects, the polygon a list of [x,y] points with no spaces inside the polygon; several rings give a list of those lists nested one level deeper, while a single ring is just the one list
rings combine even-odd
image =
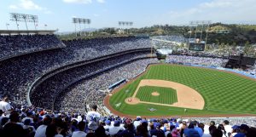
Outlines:
[{"label": "striped green outfield and foul-territory grass around the infield dirt", "polygon": [[[142,79],[167,80],[194,88],[205,100],[204,109],[187,109],[184,113],[184,108],[172,106],[126,104],[125,99],[132,96]],[[113,94],[109,103],[115,110],[135,116],[256,114],[255,99],[256,81],[224,71],[166,64],[150,66],[142,77],[138,77],[134,82],[125,85],[118,93]],[[121,105],[114,106],[117,103]],[[156,111],[148,111],[148,108],[154,108]]]}]

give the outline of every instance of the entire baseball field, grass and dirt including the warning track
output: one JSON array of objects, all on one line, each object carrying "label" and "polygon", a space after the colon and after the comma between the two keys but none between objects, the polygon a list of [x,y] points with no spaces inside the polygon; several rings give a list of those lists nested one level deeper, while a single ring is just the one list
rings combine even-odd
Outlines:
[{"label": "entire baseball field, grass and dirt including the warning track", "polygon": [[126,117],[256,116],[256,81],[200,67],[160,64],[116,88],[105,106]]}]

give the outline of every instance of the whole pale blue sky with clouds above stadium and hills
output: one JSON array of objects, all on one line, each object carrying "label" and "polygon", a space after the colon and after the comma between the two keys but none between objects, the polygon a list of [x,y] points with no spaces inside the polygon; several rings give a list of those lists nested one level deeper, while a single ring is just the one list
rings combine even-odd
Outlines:
[{"label": "whole pale blue sky with clouds above stadium and hills", "polygon": [[38,15],[38,29],[47,24],[46,29],[73,31],[73,16],[90,19],[93,28],[118,27],[118,21],[133,21],[133,27],[188,25],[191,20],[256,24],[255,9],[256,0],[0,0],[0,29],[6,24],[16,29],[9,13]]}]

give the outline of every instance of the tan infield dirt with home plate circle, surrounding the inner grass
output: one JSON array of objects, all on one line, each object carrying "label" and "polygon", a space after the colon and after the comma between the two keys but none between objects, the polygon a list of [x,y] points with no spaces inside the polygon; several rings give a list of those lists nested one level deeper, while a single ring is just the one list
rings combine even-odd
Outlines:
[{"label": "tan infield dirt with home plate circle, surrounding the inner grass", "polygon": [[[136,98],[136,94],[138,92],[138,89],[143,86],[155,86],[155,87],[176,89],[177,102],[173,103],[172,105],[168,105],[168,104],[141,101]],[[160,95],[160,94],[158,92],[153,92],[152,95]],[[183,85],[181,83],[174,83],[170,81],[155,80],[155,79],[141,80],[132,97],[126,98],[125,103],[131,104],[131,105],[144,103],[144,104],[152,104],[152,105],[158,105],[158,106],[176,106],[176,107],[184,107],[184,108],[191,108],[191,109],[198,109],[198,110],[202,110],[205,105],[205,101],[202,98],[201,94],[195,91],[195,89],[189,88],[188,86]]]}]

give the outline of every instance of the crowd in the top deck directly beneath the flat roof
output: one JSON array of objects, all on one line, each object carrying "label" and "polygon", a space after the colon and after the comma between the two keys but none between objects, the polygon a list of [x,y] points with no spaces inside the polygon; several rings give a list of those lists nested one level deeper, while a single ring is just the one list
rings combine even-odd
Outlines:
[{"label": "crowd in the top deck directly beneath the flat roof", "polygon": [[0,35],[0,60],[17,54],[64,47],[55,35]]}]

